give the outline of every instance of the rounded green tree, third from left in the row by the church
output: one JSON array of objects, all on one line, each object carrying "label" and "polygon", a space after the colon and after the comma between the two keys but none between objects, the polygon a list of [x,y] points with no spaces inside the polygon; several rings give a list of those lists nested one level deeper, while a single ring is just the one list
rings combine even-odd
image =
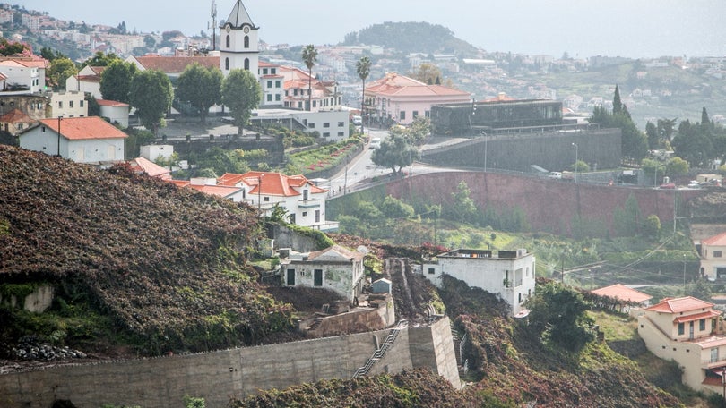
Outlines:
[{"label": "rounded green tree, third from left in the row by the church", "polygon": [[189,102],[206,122],[209,108],[221,101],[222,73],[219,68],[205,68],[198,63],[187,65],[177,81],[177,98]]}]

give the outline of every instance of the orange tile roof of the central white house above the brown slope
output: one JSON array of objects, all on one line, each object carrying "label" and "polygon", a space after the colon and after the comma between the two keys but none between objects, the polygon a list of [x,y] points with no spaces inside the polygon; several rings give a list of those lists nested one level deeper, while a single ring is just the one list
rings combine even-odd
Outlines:
[{"label": "orange tile roof of the central white house above the brown slope", "polygon": [[[262,187],[260,187],[260,180]],[[217,179],[218,185],[236,186],[238,183],[245,183],[252,187],[250,194],[266,194],[282,197],[294,197],[302,195],[302,187],[307,185],[310,187],[310,193],[316,194],[326,192],[327,190],[317,187],[314,183],[307,180],[304,175],[285,175],[272,172],[247,172],[245,174],[222,174]],[[258,190],[258,189],[262,190]]]}]

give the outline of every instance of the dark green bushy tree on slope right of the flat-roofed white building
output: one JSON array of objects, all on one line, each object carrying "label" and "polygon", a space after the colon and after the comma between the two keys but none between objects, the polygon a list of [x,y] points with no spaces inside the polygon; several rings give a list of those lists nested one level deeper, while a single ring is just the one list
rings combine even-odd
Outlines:
[{"label": "dark green bushy tree on slope right of the flat-roofed white building", "polygon": [[544,343],[576,352],[594,338],[590,331],[593,320],[586,313],[588,305],[575,289],[556,282],[538,285],[527,307],[530,327]]}]

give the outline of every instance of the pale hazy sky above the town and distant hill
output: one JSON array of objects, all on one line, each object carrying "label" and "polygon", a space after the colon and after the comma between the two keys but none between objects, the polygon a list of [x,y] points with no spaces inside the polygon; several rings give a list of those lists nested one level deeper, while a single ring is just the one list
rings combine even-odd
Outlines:
[{"label": "pale hazy sky above the town and distant hill", "polygon": [[[556,57],[726,55],[726,0],[246,0],[271,44],[336,44],[384,21],[427,21],[487,51]],[[21,0],[62,20],[128,30],[207,30],[212,0]],[[234,0],[217,0],[217,20]],[[211,32],[211,31],[210,31]]]}]

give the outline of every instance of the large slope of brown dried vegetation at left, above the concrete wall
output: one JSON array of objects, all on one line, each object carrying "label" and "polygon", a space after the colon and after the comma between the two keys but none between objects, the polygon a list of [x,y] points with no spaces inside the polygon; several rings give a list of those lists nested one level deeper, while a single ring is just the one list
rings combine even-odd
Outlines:
[{"label": "large slope of brown dried vegetation at left, above the concrete wall", "polygon": [[73,344],[99,336],[77,320],[99,314],[143,353],[259,343],[290,327],[288,306],[246,263],[259,231],[253,208],[124,166],[99,171],[0,146],[0,289],[58,288],[55,318],[5,305],[0,331],[60,331]]}]

